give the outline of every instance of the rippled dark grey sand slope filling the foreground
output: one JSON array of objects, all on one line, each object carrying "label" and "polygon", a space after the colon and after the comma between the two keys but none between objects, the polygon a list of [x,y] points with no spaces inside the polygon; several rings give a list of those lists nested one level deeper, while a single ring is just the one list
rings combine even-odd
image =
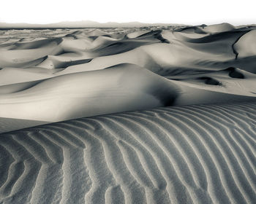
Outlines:
[{"label": "rippled dark grey sand slope filling the foreground", "polygon": [[256,103],[176,106],[0,135],[0,203],[254,203]]}]

